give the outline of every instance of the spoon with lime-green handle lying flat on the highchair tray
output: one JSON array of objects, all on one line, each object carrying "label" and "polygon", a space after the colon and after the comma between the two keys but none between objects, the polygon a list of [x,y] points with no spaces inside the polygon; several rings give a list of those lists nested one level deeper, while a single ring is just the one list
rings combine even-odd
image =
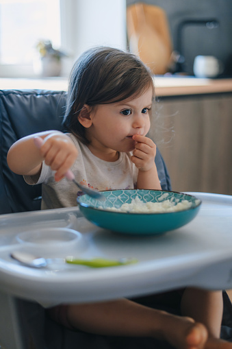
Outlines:
[{"label": "spoon with lime-green handle lying flat on the highchair tray", "polygon": [[73,256],[67,256],[66,258],[43,258],[22,251],[12,252],[10,256],[16,259],[16,261],[22,263],[23,265],[34,268],[47,267],[47,265],[50,263],[68,263],[75,265],[86,265],[87,267],[92,268],[103,268],[116,267],[118,265],[127,265],[138,262],[134,258],[107,259],[100,257],[92,259],[79,259]]}]

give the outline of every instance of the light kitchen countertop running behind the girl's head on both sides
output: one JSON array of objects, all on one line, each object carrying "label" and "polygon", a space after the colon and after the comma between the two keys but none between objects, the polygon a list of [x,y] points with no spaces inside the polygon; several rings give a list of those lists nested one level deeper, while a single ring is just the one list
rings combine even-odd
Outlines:
[{"label": "light kitchen countertop running behind the girl's head on both sides", "polygon": [[[231,79],[201,79],[196,77],[154,77],[155,94],[162,96],[201,95],[208,93],[232,92]],[[64,77],[43,79],[10,79],[0,78],[0,89],[47,89],[66,91],[68,80]]]}]

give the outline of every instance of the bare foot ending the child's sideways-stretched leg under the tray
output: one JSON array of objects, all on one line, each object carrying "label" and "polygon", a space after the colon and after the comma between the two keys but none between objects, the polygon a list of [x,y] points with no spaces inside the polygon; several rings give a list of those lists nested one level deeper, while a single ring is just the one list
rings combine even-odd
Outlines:
[{"label": "bare foot ending the child's sideways-stretched leg under the tray", "polygon": [[[167,315],[164,337],[177,349],[205,349],[207,329],[203,324],[194,322],[190,317]],[[214,349],[214,348],[210,348]],[[232,349],[232,348],[222,348]]]}]

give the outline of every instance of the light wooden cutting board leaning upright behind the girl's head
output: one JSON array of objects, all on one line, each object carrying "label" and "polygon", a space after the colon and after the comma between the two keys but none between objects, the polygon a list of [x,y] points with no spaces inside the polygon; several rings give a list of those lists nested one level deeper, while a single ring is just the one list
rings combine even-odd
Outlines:
[{"label": "light wooden cutting board leaning upright behind the girl's head", "polygon": [[136,3],[127,8],[127,35],[131,52],[155,74],[168,71],[172,54],[169,25],[162,8]]}]

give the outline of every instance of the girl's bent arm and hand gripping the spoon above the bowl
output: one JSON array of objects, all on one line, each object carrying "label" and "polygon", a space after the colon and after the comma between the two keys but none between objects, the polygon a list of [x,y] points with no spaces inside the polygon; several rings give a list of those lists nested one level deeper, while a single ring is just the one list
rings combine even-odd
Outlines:
[{"label": "girl's bent arm and hand gripping the spoon above the bowl", "polygon": [[[43,139],[40,149],[34,143],[36,137]],[[76,158],[77,149],[66,134],[46,131],[16,141],[9,149],[7,160],[13,172],[25,176],[39,175],[42,161],[45,160],[45,163],[56,171],[55,180],[61,180]]]}]

